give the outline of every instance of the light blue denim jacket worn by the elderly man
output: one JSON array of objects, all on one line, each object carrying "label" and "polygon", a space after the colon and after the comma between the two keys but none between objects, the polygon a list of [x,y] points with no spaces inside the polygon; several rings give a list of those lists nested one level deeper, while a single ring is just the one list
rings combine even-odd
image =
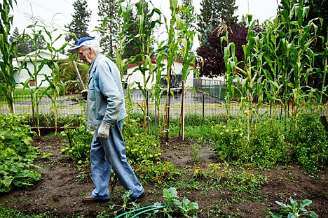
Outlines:
[{"label": "light blue denim jacket worn by the elderly man", "polygon": [[114,126],[126,116],[120,72],[113,61],[98,54],[89,68],[87,131],[97,130],[102,122]]}]

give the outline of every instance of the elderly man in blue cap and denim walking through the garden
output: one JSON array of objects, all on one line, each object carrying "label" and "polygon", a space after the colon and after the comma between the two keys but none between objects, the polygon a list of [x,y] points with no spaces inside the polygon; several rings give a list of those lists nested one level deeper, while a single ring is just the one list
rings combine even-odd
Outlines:
[{"label": "elderly man in blue cap and denim walking through the garden", "polygon": [[144,196],[144,188],[137,180],[126,159],[122,137],[123,118],[126,117],[121,76],[117,66],[100,54],[99,45],[90,37],[81,38],[69,52],[90,65],[87,97],[87,130],[94,131],[91,142],[91,173],[95,189],[84,203],[109,201],[111,167],[118,180],[135,201]]}]

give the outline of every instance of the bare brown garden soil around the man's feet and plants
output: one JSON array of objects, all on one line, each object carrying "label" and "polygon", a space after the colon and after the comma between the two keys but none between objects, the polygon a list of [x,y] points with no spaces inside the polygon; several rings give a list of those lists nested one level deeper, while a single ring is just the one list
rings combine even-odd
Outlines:
[{"label": "bare brown garden soil around the man's feet and plants", "polygon": [[[107,203],[82,203],[83,196],[93,190],[90,179],[90,169],[78,170],[78,165],[66,155],[60,154],[64,147],[60,137],[35,137],[32,144],[40,147],[41,152],[51,152],[52,156],[38,159],[42,180],[30,189],[15,189],[0,194],[0,205],[20,210],[26,214],[40,214],[51,212],[54,217],[96,217],[99,212],[108,210],[109,217],[113,217],[109,205],[121,205],[122,194],[125,193],[120,184],[116,184],[111,192],[111,200]],[[198,154],[197,166],[193,163],[191,147],[202,146]],[[209,163],[215,161],[215,154],[210,144],[194,143],[191,140],[170,138],[168,143],[162,143],[164,151],[162,160],[171,161],[178,168],[205,169]],[[271,170],[250,170],[251,173],[261,173],[268,177],[268,182],[261,187],[257,201],[239,199],[231,201],[233,193],[228,190],[210,190],[205,193],[202,189],[177,189],[179,199],[184,196],[199,204],[198,217],[268,217],[268,210],[278,212],[279,206],[275,201],[289,203],[289,197],[301,201],[310,199],[313,203],[310,210],[319,217],[328,217],[328,169],[315,176],[304,173],[298,166],[281,166]],[[168,181],[170,182],[170,181]],[[163,202],[163,188],[160,185],[144,184],[146,196],[137,201],[142,206]],[[254,198],[253,198],[254,199]],[[235,202],[235,203],[234,203]],[[239,202],[239,203],[238,203]],[[220,205],[219,207],[216,205]],[[210,215],[212,214],[212,215]]]}]

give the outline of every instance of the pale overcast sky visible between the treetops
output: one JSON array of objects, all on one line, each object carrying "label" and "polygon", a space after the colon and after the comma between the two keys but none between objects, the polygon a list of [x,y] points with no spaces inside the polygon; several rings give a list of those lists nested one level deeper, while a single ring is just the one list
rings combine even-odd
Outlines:
[{"label": "pale overcast sky visible between the treetops", "polygon": [[[75,0],[18,0],[18,5],[14,6],[13,27],[18,27],[20,33],[32,21],[29,17],[41,18],[47,23],[56,24],[57,27],[64,29],[64,24],[69,24],[72,20],[71,15],[74,14],[73,3]],[[180,1],[180,0],[179,0]],[[239,18],[242,15],[250,13],[254,19],[259,22],[275,17],[278,8],[278,0],[235,0],[238,10],[235,15]],[[95,29],[98,24],[97,16],[97,0],[87,0],[88,9],[92,10],[91,22],[89,24],[90,31]],[[156,8],[160,8],[162,13],[170,17],[170,1],[169,0],[153,0]],[[199,10],[199,0],[193,0],[196,10]]]}]

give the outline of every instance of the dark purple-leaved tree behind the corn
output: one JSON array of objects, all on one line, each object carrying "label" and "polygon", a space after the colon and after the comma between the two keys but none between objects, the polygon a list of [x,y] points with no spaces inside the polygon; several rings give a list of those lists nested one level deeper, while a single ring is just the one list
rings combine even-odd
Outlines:
[{"label": "dark purple-leaved tree behind the corn", "polygon": [[[200,76],[208,78],[215,78],[226,73],[226,66],[224,64],[224,47],[226,42],[221,44],[221,36],[225,36],[226,32],[221,32],[220,29],[214,29],[207,34],[207,42],[201,45],[197,50],[197,54],[204,59],[203,68],[200,67]],[[238,60],[244,59],[242,45],[247,44],[247,27],[235,24],[231,29],[228,29],[229,42],[235,43],[235,56]]]}]

